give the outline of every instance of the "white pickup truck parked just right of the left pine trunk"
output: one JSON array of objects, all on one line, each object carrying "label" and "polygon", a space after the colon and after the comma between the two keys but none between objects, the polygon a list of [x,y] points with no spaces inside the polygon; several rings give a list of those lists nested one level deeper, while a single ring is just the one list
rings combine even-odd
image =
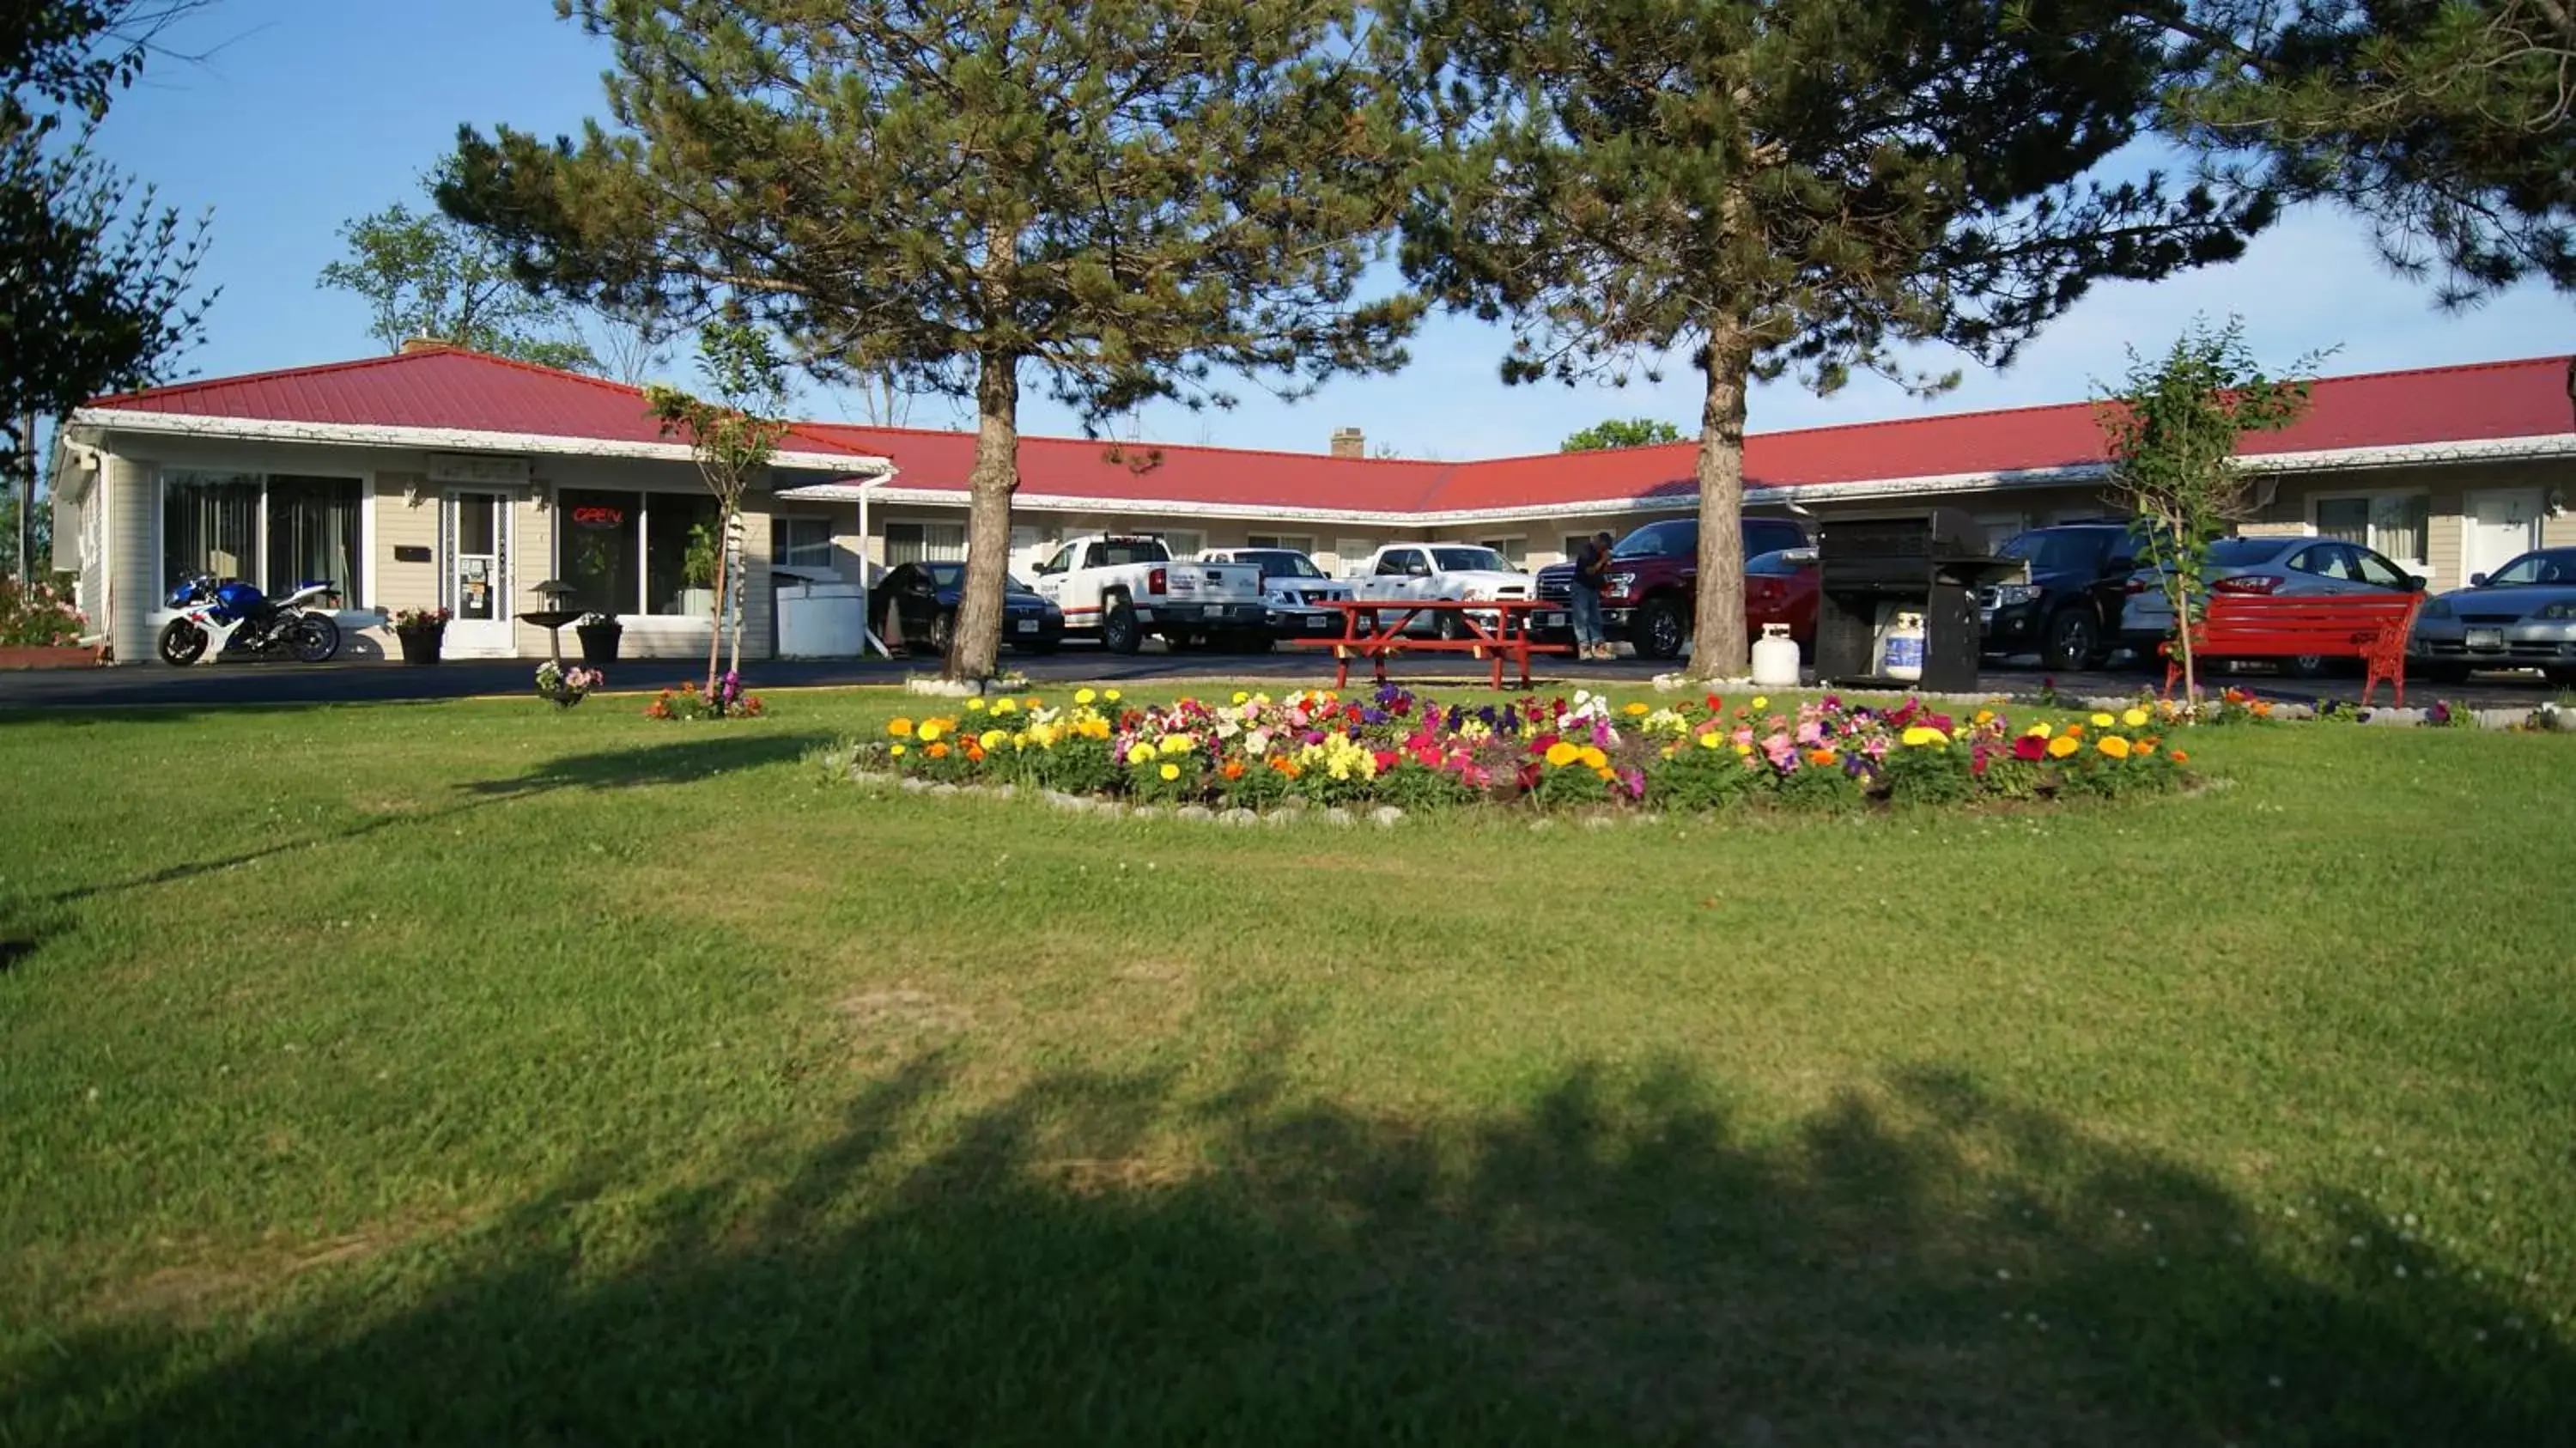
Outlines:
[{"label": "white pickup truck parked just right of the left pine trunk", "polygon": [[1033,585],[1064,611],[1066,636],[1095,634],[1113,654],[1133,654],[1146,634],[1175,649],[1270,639],[1257,564],[1177,562],[1151,533],[1074,538]]}]

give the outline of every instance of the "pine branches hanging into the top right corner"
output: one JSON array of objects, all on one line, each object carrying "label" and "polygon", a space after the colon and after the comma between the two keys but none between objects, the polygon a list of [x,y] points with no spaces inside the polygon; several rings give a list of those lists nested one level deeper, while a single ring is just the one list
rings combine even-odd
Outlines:
[{"label": "pine branches hanging into the top right corner", "polygon": [[2445,307],[2576,291],[2571,0],[2200,0],[2177,23],[2208,59],[2166,126],[2228,178],[2367,216]]}]

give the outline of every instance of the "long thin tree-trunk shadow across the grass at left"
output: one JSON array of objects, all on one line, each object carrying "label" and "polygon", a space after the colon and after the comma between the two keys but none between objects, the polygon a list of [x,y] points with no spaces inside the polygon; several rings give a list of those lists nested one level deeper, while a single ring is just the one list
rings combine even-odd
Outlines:
[{"label": "long thin tree-trunk shadow across the grass at left", "polygon": [[[314,845],[363,840],[384,830],[404,830],[412,824],[446,822],[459,814],[469,814],[474,809],[484,809],[492,804],[533,799],[541,794],[556,794],[567,788],[592,791],[592,788],[652,788],[652,786],[698,783],[732,770],[750,770],[750,768],[799,760],[806,752],[829,742],[832,742],[829,734],[703,734],[672,745],[639,745],[631,750],[598,750],[590,755],[567,755],[559,760],[544,760],[520,776],[459,783],[456,799],[446,804],[368,814],[363,819],[353,819],[348,824],[319,830],[312,835],[299,835],[294,840],[273,840],[268,845],[234,850],[206,861],[183,861],[121,881],[72,886],[52,894],[49,904],[75,904],[103,894],[126,894],[137,889],[152,889],[160,884],[175,884],[196,876],[240,868],[252,861],[265,861],[270,855],[289,855],[296,850],[312,850]],[[8,930],[10,930],[10,915],[5,902],[0,902],[0,935],[5,935]]]}]

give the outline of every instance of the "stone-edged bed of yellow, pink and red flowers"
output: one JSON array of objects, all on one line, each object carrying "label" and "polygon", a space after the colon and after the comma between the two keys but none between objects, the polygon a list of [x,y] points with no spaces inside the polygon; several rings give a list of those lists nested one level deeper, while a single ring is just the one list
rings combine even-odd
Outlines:
[{"label": "stone-edged bed of yellow, pink and red flowers", "polygon": [[1440,706],[1399,685],[1365,698],[1236,693],[1128,709],[1118,691],[969,698],[953,714],[894,719],[853,768],[927,783],[1012,783],[1141,806],[1270,809],[1468,804],[1595,809],[1865,809],[2154,794],[2184,783],[2146,709],[2012,719],[1924,703],[1873,709],[1826,696],[1790,711],[1553,701]]}]

